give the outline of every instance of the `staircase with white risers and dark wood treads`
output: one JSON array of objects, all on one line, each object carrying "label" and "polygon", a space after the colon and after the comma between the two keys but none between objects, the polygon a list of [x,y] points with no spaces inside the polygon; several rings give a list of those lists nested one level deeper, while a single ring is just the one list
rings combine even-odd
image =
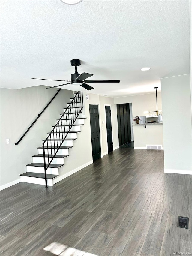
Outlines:
[{"label": "staircase with white risers and dark wood treads", "polygon": [[56,120],[52,131],[43,140],[43,145],[38,147],[38,154],[32,155],[33,162],[27,164],[27,172],[20,174],[21,182],[29,182],[47,186],[54,185],[59,176],[59,168],[64,166],[64,158],[69,156],[73,147],[73,140],[77,140],[77,133],[84,125],[82,115],[83,98],[82,92],[74,94],[74,98],[67,103],[64,113]]}]

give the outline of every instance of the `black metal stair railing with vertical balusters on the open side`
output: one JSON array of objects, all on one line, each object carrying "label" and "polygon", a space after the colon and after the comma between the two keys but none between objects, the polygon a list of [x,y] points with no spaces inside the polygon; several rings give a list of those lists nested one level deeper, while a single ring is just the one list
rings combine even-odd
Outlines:
[{"label": "black metal stair railing with vertical balusters on the open side", "polygon": [[[81,113],[83,108],[83,93],[77,92],[73,100],[70,102],[67,109],[62,114],[61,118],[56,123],[55,127],[49,133],[47,138],[43,142],[43,157],[44,157],[44,170],[45,170],[45,185],[47,186],[47,176],[46,171],[49,168],[52,160],[60,149],[62,143],[66,139],[69,134],[74,122],[77,117]],[[55,137],[56,134],[56,137]],[[49,153],[49,145],[48,141],[50,141],[50,153]],[[53,145],[52,145],[53,142]],[[47,148],[47,156],[45,154],[45,148]],[[47,158],[47,163],[46,159]]]}]

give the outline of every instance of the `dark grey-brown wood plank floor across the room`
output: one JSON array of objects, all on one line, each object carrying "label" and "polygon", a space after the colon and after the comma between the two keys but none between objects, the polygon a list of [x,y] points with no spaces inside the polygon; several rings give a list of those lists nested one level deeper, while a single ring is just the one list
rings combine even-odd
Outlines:
[{"label": "dark grey-brown wood plank floor across the room", "polygon": [[1,256],[192,253],[192,176],[163,170],[163,151],[121,147],[53,187],[2,190]]}]

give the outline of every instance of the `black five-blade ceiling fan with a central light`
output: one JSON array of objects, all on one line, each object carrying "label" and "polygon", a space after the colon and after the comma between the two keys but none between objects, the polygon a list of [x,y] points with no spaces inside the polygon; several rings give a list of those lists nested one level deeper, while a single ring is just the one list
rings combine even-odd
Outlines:
[{"label": "black five-blade ceiling fan with a central light", "polygon": [[[77,66],[81,65],[81,61],[80,59],[72,59],[71,60],[71,66],[75,67],[75,73],[71,74],[71,81],[69,80],[52,80],[52,79],[42,79],[42,78],[32,78],[32,79],[40,79],[40,80],[50,80],[50,81],[64,81],[64,82],[70,82],[72,85],[80,85],[83,88],[87,89],[87,90],[92,90],[94,89],[92,86],[86,84],[86,83],[119,83],[120,80],[85,80],[88,77],[93,76],[93,74],[89,74],[89,73],[82,73],[79,74],[77,72]],[[65,84],[60,84],[57,86],[52,86],[52,87],[48,87],[46,89],[49,88],[54,88],[54,87],[58,87],[58,86],[63,86],[63,85],[67,85],[70,83],[65,83]]]}]

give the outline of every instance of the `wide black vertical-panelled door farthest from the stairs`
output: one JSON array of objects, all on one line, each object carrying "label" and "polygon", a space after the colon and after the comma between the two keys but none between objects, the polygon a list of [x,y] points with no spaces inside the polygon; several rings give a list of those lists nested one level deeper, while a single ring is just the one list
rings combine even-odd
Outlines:
[{"label": "wide black vertical-panelled door farthest from the stairs", "polygon": [[131,121],[129,103],[117,104],[119,146],[131,141]]}]

